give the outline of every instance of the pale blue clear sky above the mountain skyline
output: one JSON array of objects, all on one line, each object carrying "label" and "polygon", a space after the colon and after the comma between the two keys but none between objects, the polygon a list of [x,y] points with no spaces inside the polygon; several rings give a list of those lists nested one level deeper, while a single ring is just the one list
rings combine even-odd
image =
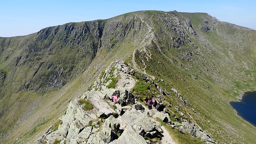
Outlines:
[{"label": "pale blue clear sky above the mountain skyline", "polygon": [[2,0],[0,37],[27,35],[50,26],[142,10],[203,12],[256,30],[255,0]]}]

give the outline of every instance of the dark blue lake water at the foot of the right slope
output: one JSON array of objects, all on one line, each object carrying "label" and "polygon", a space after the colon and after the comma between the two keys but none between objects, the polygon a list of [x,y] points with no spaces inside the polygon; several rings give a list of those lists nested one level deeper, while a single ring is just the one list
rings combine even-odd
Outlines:
[{"label": "dark blue lake water at the foot of the right slope", "polygon": [[230,102],[243,119],[256,127],[256,91],[245,92],[240,102]]}]

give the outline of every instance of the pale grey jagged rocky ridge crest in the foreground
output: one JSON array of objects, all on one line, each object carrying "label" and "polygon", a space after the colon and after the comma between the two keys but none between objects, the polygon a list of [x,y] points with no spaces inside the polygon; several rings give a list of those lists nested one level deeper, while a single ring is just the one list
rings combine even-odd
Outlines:
[{"label": "pale grey jagged rocky ridge crest in the foreground", "polygon": [[[125,72],[119,70],[121,66],[125,67]],[[214,143],[211,134],[197,128],[195,123],[190,124],[186,119],[182,119],[181,123],[172,123],[166,108],[163,111],[157,110],[158,107],[164,107],[162,103],[155,110],[148,110],[137,102],[136,96],[130,91],[136,83],[132,78],[133,72],[122,61],[111,63],[104,75],[99,75],[90,91],[70,102],[65,115],[60,118],[62,124],[58,130],[53,131],[52,126],[49,127],[36,143],[51,144],[60,141],[61,144],[175,144],[165,127],[155,118],[161,119],[181,133],[190,133],[202,141]],[[113,77],[119,78],[116,89],[108,88],[112,82],[110,78]],[[120,104],[111,101],[111,96],[115,94],[120,95]],[[94,105],[93,109],[85,111],[82,108],[84,105],[78,104],[81,99],[89,100]]]}]

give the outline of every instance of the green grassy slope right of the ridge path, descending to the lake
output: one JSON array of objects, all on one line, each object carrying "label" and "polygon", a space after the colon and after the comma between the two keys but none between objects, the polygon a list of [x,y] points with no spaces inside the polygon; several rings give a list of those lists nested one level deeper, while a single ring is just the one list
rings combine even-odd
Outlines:
[{"label": "green grassy slope right of the ridge path, descending to the lake", "polygon": [[[199,126],[210,131],[218,142],[255,143],[255,127],[238,116],[229,101],[237,100],[243,91],[255,90],[253,58],[256,49],[256,32],[240,30],[220,22],[215,26],[209,24],[209,27],[215,29],[204,32],[199,30],[199,25],[203,25],[202,21],[207,19],[207,14],[177,13],[177,15],[191,20],[191,25],[199,36],[199,39],[191,39],[191,41],[198,48],[187,43],[178,49],[165,46],[159,52],[153,45],[148,49],[152,53],[152,59],[146,62],[147,72],[159,80],[165,80],[168,85],[162,84],[162,87],[167,90],[171,87],[179,90],[190,102],[191,107],[184,106],[174,94],[168,99],[180,105],[183,111],[190,113]],[[160,31],[161,27],[164,26],[158,22],[157,28]],[[241,38],[242,35],[244,38]],[[162,38],[157,43],[163,44],[165,38]],[[184,51],[199,53],[199,56],[192,55],[193,61],[181,60],[179,57]],[[141,54],[137,57],[141,67],[143,67],[141,59],[146,61],[144,56]],[[182,67],[179,66],[180,63]],[[194,113],[192,108],[197,113]]]}]

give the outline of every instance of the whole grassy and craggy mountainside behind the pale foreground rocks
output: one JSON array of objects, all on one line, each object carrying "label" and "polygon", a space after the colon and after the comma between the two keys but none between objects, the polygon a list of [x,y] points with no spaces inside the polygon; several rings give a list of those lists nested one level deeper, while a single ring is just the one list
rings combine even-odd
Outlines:
[{"label": "whole grassy and craggy mountainside behind the pale foreground rocks", "polygon": [[[33,143],[118,59],[154,78],[166,99],[216,142],[256,143],[255,127],[229,105],[255,90],[255,40],[255,30],[176,11],[138,11],[0,38],[1,143]],[[144,89],[141,100],[146,95],[154,92]]]}]

